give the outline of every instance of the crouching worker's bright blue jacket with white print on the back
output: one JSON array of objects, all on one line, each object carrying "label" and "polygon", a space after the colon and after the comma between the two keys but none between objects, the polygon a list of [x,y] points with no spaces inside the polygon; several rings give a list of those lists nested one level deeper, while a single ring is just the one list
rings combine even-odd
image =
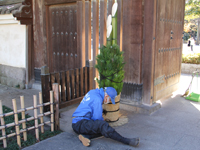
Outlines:
[{"label": "crouching worker's bright blue jacket with white print on the back", "polygon": [[77,123],[82,119],[87,120],[104,120],[102,117],[104,101],[104,90],[90,90],[82,99],[80,105],[73,113],[72,123]]}]

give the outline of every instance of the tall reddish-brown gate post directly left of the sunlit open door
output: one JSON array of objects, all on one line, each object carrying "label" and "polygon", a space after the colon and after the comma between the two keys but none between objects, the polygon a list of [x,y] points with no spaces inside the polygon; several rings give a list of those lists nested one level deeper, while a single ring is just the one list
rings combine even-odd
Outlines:
[{"label": "tall reddish-brown gate post directly left of the sunlit open door", "polygon": [[154,49],[156,26],[156,0],[145,0],[144,53],[143,53],[143,103],[152,105],[154,88]]}]

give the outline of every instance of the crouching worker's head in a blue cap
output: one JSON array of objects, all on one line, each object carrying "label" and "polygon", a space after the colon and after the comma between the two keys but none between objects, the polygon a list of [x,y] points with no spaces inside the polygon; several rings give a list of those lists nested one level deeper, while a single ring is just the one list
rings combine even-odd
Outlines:
[{"label": "crouching worker's head in a blue cap", "polygon": [[113,87],[105,87],[104,89],[104,104],[113,103],[115,104],[115,97],[117,96],[117,91]]}]

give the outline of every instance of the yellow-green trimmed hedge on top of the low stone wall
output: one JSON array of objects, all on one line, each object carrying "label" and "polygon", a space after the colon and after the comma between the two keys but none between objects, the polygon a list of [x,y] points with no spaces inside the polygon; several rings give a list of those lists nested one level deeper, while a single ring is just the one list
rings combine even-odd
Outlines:
[{"label": "yellow-green trimmed hedge on top of the low stone wall", "polygon": [[200,53],[182,55],[182,63],[200,64]]}]

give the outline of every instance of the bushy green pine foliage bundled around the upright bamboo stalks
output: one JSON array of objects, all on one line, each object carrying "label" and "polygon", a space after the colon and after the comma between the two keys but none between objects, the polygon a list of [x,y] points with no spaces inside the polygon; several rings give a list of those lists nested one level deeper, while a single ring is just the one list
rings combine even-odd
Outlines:
[{"label": "bushy green pine foliage bundled around the upright bamboo stalks", "polygon": [[99,88],[113,87],[117,94],[122,91],[124,79],[124,56],[119,46],[103,46],[96,57],[95,68],[99,71],[100,79],[97,79]]}]

